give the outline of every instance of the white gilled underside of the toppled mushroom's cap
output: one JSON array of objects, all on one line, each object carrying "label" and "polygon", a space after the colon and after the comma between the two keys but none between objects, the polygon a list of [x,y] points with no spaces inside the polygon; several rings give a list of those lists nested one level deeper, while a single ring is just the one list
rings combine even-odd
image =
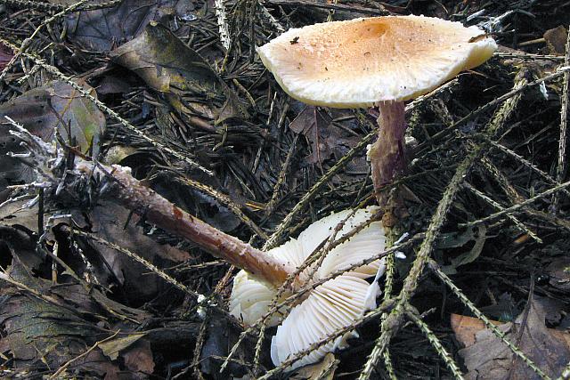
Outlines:
[{"label": "white gilled underside of the toppled mushroom's cap", "polygon": [[[289,239],[281,247],[268,251],[267,255],[279,257],[288,265],[297,268],[321,246],[323,241],[330,238],[338,223],[344,221],[342,229],[335,237],[341,239],[354,227],[370,222],[377,211],[379,211],[378,206],[369,206],[357,210],[354,214],[352,210],[330,214],[311,224],[297,239]],[[310,266],[305,269],[299,275],[301,285],[325,279],[335,271],[347,270],[356,263],[362,263],[363,260],[378,255],[385,247],[386,238],[382,223],[370,222],[350,239],[332,248],[317,268]],[[282,361],[330,336],[336,330],[352,325],[365,311],[376,308],[376,297],[380,293],[378,282],[375,279],[370,284],[366,279],[375,275],[378,279],[384,270],[385,259],[351,269],[315,287],[301,303],[293,307],[285,319],[281,318],[281,313],[273,314],[268,326],[277,326],[281,323],[272,339],[273,364],[280,365]],[[313,277],[310,276],[312,271],[314,271]],[[276,294],[276,287],[252,279],[248,272],[240,271],[233,280],[230,312],[245,324],[254,325],[268,311]],[[282,298],[289,295],[291,294],[284,294]],[[351,334],[339,336],[333,342],[322,345],[295,361],[290,369],[314,363],[321,360],[327,352],[344,348],[349,336]]]}]

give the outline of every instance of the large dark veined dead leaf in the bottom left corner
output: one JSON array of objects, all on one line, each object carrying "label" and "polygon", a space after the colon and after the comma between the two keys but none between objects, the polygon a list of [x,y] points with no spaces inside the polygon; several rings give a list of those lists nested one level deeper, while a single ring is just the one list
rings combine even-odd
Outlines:
[{"label": "large dark veined dead leaf in the bottom left corner", "polygon": [[[6,283],[0,280],[3,286],[0,324],[5,333],[0,337],[0,345],[10,347],[14,368],[59,368],[108,334],[84,319],[80,315],[82,310],[53,295],[50,292],[53,285],[49,281],[32,278],[18,261],[8,272],[12,279],[53,300],[47,302],[35,296],[21,295],[20,291],[6,287]],[[104,358],[99,350],[94,350],[72,362],[69,370],[103,376],[117,374],[119,368]]]}]

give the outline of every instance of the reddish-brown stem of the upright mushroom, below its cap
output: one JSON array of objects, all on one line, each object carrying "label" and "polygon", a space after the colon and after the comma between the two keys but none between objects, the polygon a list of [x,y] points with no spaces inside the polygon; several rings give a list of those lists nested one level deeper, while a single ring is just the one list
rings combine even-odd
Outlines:
[{"label": "reddish-brown stem of the upright mushroom, below its cap", "polygon": [[378,140],[371,146],[368,155],[376,199],[380,207],[385,207],[388,197],[381,188],[392,182],[406,166],[403,155],[406,123],[403,101],[380,102],[379,110]]}]

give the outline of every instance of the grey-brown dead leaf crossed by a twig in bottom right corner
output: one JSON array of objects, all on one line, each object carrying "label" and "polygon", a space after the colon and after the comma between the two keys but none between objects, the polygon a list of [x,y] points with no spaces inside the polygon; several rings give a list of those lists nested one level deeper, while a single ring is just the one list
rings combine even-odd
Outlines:
[{"label": "grey-brown dead leaf crossed by a twig in bottom right corner", "polygon": [[[548,376],[559,376],[570,360],[567,334],[562,333],[565,338],[561,339],[559,332],[555,333],[545,326],[545,311],[539,303],[533,300],[529,308],[525,326],[521,326],[525,317],[525,313],[522,313],[514,323],[505,323],[499,328],[506,333],[510,342],[517,344],[517,347]],[[458,338],[463,339],[466,344],[471,343],[459,352],[468,368],[466,378],[477,380],[506,376],[513,380],[540,378],[522,360],[516,358],[509,347],[493,332],[486,328],[475,331],[476,322],[467,322],[468,319],[465,318],[456,317],[454,331],[459,329]],[[468,327],[461,331],[463,326]],[[522,335],[520,328],[524,328]]]}]

